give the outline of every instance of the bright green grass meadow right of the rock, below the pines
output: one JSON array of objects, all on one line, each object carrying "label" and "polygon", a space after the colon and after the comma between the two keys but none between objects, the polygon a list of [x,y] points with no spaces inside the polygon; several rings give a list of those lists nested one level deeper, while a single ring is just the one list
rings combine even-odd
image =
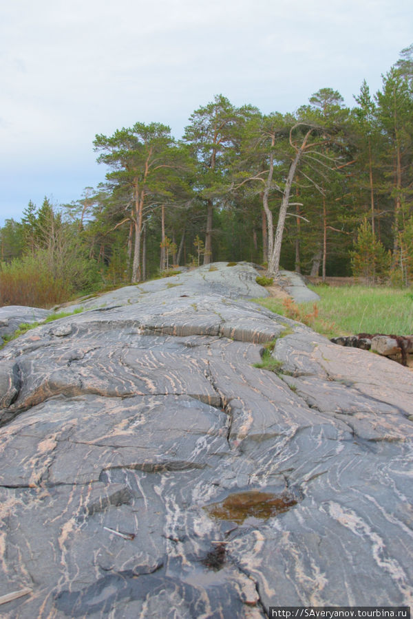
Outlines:
[{"label": "bright green grass meadow right of the rock, below the pines", "polygon": [[412,292],[360,285],[317,286],[312,289],[320,296],[317,316],[312,315],[314,303],[295,305],[299,310],[296,317],[275,298],[255,301],[277,314],[301,320],[329,338],[358,333],[413,334]]}]

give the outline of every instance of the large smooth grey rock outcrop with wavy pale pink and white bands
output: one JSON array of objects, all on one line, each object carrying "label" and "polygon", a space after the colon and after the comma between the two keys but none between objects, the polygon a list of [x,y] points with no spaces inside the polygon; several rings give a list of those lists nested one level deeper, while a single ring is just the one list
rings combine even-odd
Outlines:
[{"label": "large smooth grey rock outcrop with wavy pale pink and white bands", "polygon": [[[214,267],[0,351],[0,596],[31,591],[1,616],[412,604],[412,373]],[[278,375],[253,367],[273,338]]]}]

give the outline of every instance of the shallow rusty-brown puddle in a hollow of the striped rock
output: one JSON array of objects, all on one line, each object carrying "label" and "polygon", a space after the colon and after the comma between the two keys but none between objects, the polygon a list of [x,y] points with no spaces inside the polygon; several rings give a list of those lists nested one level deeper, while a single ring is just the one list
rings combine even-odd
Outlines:
[{"label": "shallow rusty-brown puddle in a hollow of the striped rock", "polygon": [[287,492],[273,494],[273,492],[260,492],[260,490],[248,490],[235,492],[219,503],[211,503],[205,506],[209,515],[217,520],[231,520],[242,524],[247,518],[268,520],[278,514],[288,512],[297,505],[297,499]]}]

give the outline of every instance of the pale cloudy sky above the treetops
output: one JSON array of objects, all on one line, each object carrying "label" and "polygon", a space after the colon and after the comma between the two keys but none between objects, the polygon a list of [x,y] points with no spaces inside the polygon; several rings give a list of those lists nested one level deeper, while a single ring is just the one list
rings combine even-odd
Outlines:
[{"label": "pale cloudy sky above the treetops", "polygon": [[330,87],[352,106],[411,43],[412,0],[0,0],[0,226],[103,182],[97,133],[180,138],[215,94],[285,113]]}]

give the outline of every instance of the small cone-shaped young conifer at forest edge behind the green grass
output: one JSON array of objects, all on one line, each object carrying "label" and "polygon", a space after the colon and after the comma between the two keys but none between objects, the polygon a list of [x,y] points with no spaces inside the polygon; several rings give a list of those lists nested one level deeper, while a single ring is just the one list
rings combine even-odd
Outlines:
[{"label": "small cone-shaped young conifer at forest edge behind the green grass", "polygon": [[368,284],[383,281],[390,268],[390,254],[372,231],[365,219],[357,230],[357,243],[351,255],[354,276],[363,276]]}]

